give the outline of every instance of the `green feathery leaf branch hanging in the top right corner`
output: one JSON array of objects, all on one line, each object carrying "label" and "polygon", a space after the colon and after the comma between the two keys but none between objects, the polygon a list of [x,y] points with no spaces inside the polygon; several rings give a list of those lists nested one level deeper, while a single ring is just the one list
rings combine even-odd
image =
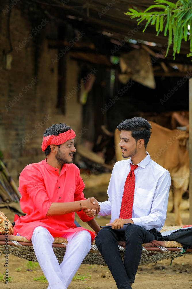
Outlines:
[{"label": "green feathery leaf branch hanging in the top right corner", "polygon": [[[192,52],[192,1],[178,0],[176,3],[172,3],[165,0],[155,0],[154,2],[155,5],[151,5],[144,12],[129,9],[125,14],[131,18],[138,18],[138,23],[147,21],[143,32],[145,32],[147,26],[151,24],[155,25],[157,36],[160,32],[163,32],[163,30],[164,36],[167,36],[168,33],[166,56],[170,45],[173,43],[173,56],[175,59],[175,54],[180,52],[182,39],[190,41],[190,52]],[[156,9],[156,11],[152,9]],[[190,25],[190,30],[188,30],[188,25]]]}]

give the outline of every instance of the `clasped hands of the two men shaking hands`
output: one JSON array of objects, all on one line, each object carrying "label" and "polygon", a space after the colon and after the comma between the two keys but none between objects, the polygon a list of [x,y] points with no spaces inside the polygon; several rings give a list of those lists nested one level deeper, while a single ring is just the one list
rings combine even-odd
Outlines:
[{"label": "clasped hands of the two men shaking hands", "polygon": [[96,216],[100,212],[100,205],[94,197],[81,201],[81,207],[83,212],[90,218]]}]

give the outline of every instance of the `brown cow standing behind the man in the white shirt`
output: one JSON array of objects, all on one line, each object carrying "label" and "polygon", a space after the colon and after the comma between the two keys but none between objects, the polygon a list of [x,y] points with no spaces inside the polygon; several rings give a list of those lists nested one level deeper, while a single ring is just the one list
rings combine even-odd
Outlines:
[{"label": "brown cow standing behind the man in the white shirt", "polygon": [[[151,159],[166,168],[171,175],[174,188],[175,224],[182,225],[179,206],[184,190],[189,184],[189,153],[187,138],[189,134],[180,129],[167,129],[152,121],[152,133],[147,145]],[[115,154],[117,161],[123,160],[121,149],[118,147],[120,131],[115,130]],[[149,176],[150,177],[150,176]]]}]

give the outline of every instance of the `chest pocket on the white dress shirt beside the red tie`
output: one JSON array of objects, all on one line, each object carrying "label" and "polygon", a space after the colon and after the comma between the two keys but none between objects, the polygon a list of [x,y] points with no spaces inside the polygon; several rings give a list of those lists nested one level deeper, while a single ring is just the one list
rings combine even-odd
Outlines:
[{"label": "chest pocket on the white dress shirt beside the red tie", "polygon": [[153,192],[137,188],[134,194],[133,205],[141,210],[147,210],[151,208],[151,204],[153,201]]}]

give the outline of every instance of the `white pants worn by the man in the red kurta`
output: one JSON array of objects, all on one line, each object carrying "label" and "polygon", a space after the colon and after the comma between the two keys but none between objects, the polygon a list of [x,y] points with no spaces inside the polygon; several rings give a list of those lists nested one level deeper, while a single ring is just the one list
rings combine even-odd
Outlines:
[{"label": "white pants worn by the man in the red kurta", "polygon": [[91,249],[91,235],[88,231],[76,231],[63,235],[68,245],[62,263],[52,249],[53,236],[44,227],[36,227],[31,238],[35,255],[41,269],[49,282],[47,289],[66,289],[85,255]]}]

